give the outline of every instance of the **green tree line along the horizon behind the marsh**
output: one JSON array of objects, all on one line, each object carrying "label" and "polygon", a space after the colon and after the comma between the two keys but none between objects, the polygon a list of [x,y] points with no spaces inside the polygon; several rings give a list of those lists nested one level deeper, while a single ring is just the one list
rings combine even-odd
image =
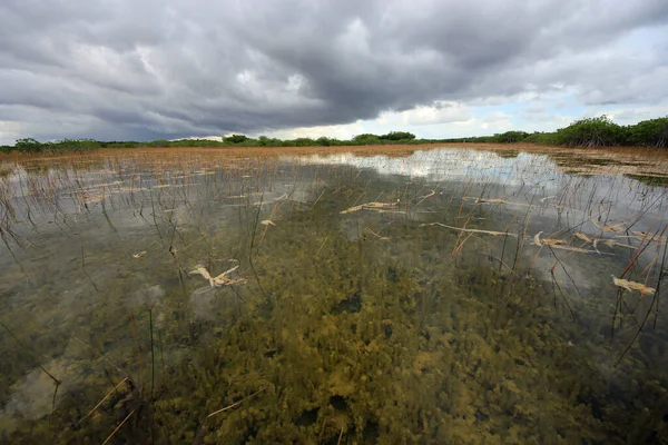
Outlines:
[{"label": "green tree line along the horizon behind the marsh", "polygon": [[461,144],[538,144],[563,147],[668,147],[668,117],[649,119],[632,126],[615,123],[608,116],[577,120],[554,132],[507,131],[493,136],[480,136],[454,139],[416,139],[407,131],[391,131],[386,135],[363,134],[350,140],[335,138],[276,139],[261,136],[250,138],[245,135],[230,135],[222,141],[208,139],[153,140],[138,141],[98,141],[92,139],[63,139],[40,142],[32,138],[19,139],[13,146],[0,146],[0,151],[20,151],[27,154],[81,152],[100,148],[140,148],[140,147],[330,147],[369,145],[418,145],[438,142]]}]

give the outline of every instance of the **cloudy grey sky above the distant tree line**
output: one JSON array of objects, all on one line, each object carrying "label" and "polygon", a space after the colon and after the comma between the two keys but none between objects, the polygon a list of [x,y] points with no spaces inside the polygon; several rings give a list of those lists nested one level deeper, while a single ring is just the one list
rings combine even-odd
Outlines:
[{"label": "cloudy grey sky above the distant tree line", "polygon": [[667,0],[1,0],[0,145],[668,115]]}]

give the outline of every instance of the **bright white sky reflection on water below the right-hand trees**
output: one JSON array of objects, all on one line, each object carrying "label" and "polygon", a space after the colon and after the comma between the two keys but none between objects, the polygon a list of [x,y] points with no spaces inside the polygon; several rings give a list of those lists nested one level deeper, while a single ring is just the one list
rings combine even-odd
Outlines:
[{"label": "bright white sky reflection on water below the right-hand trees", "polygon": [[[525,211],[524,206],[532,205],[532,211],[543,222],[556,222],[553,228],[561,228],[564,219],[563,224],[581,224],[601,217],[599,222],[632,224],[638,219],[635,229],[656,230],[657,224],[666,219],[665,188],[650,187],[622,175],[571,175],[546,155],[501,155],[503,152],[443,148],[418,150],[406,157],[333,154],[285,157],[285,160],[352,166],[380,175],[424,179],[445,188],[448,182],[470,185],[466,195],[505,199],[509,210]],[[590,222],[583,224],[582,229],[597,231]]]}]

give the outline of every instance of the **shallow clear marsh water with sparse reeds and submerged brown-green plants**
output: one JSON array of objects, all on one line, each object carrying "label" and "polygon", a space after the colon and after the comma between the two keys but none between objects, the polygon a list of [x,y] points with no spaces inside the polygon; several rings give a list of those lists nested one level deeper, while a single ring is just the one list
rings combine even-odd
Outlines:
[{"label": "shallow clear marsh water with sparse reeds and submerged brown-green plants", "polygon": [[666,443],[661,162],[6,160],[0,442]]}]

